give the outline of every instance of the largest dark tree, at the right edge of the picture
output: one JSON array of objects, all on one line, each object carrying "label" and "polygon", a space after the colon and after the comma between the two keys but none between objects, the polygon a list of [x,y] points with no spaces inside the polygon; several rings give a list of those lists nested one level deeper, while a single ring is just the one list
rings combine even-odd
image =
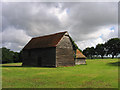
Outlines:
[{"label": "largest dark tree, at the right edge of the picture", "polygon": [[106,47],[107,55],[110,54],[112,55],[112,58],[114,58],[114,56],[120,54],[120,38],[109,39],[105,43],[105,47]]}]

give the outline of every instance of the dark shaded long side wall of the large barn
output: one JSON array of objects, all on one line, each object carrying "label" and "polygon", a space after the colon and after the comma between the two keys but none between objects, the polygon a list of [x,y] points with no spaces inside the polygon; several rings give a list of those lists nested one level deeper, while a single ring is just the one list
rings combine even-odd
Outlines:
[{"label": "dark shaded long side wall of the large barn", "polygon": [[55,66],[55,48],[24,50],[23,66]]}]

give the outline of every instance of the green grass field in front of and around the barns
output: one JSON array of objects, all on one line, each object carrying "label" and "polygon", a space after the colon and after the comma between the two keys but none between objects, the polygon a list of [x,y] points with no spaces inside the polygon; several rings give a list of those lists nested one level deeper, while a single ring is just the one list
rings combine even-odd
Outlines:
[{"label": "green grass field in front of and around the barns", "polygon": [[73,67],[21,67],[3,64],[3,88],[118,88],[118,59],[87,60]]}]

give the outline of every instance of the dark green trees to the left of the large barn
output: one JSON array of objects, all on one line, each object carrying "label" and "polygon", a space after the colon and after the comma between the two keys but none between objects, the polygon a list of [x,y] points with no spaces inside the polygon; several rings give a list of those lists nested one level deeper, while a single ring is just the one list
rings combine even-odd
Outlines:
[{"label": "dark green trees to the left of the large barn", "polygon": [[10,51],[10,49],[7,49],[5,47],[0,48],[2,52],[2,58],[0,59],[2,63],[16,63],[20,62],[19,59],[19,53]]}]

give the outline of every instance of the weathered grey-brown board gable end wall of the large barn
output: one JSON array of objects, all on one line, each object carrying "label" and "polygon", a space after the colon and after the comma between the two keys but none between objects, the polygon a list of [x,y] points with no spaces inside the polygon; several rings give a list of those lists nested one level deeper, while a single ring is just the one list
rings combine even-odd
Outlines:
[{"label": "weathered grey-brown board gable end wall of the large barn", "polygon": [[69,36],[63,36],[56,47],[56,66],[75,65],[73,47]]}]

